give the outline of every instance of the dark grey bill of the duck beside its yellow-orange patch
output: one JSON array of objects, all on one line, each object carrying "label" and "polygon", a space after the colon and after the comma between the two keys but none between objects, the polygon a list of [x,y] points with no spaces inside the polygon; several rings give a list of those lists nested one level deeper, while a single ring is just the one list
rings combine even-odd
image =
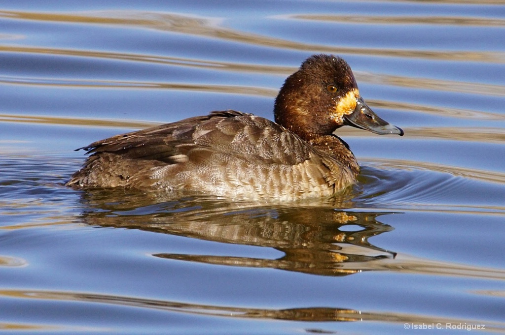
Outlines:
[{"label": "dark grey bill of the duck beside its yellow-orange patch", "polygon": [[377,116],[362,98],[358,99],[354,112],[349,115],[344,115],[344,120],[347,125],[372,131],[376,134],[403,136],[403,130],[401,130],[401,128],[389,124]]}]

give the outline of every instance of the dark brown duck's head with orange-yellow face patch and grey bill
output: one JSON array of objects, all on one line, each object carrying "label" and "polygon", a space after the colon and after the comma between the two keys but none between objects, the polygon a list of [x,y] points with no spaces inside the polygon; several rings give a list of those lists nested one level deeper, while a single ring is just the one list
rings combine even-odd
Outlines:
[{"label": "dark brown duck's head with orange-yellow face patch and grey bill", "polygon": [[277,123],[305,140],[330,135],[342,125],[403,135],[403,130],[367,106],[349,65],[333,55],[307,58],[286,79],[275,100],[274,114]]}]

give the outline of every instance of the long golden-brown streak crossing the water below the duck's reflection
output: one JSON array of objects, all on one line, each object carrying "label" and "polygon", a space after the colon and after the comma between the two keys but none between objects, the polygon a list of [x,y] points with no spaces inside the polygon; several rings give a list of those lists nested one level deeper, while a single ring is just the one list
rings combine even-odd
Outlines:
[{"label": "long golden-brown streak crossing the water below the duck's reflection", "polygon": [[[67,302],[86,302],[119,305],[125,307],[155,309],[172,313],[184,313],[194,316],[212,316],[224,318],[283,320],[304,322],[369,321],[395,324],[485,324],[485,330],[505,331],[504,322],[490,322],[476,319],[457,319],[416,313],[372,312],[338,307],[299,307],[288,309],[247,308],[223,305],[205,305],[181,301],[155,300],[120,295],[93,294],[85,292],[37,291],[37,290],[0,290],[0,297],[14,299],[50,300]],[[306,329],[311,332],[325,333],[324,328]]]}]

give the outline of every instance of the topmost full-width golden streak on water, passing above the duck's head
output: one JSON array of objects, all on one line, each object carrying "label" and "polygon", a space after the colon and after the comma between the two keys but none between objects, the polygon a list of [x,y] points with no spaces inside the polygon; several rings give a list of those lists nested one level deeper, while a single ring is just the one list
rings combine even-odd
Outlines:
[{"label": "topmost full-width golden streak on water, passing above the duck's head", "polygon": [[0,11],[0,18],[93,25],[103,24],[110,26],[137,26],[144,29],[156,29],[161,31],[217,38],[237,43],[274,47],[276,49],[284,48],[311,52],[318,51],[364,55],[375,54],[377,56],[416,57],[450,61],[505,62],[505,53],[493,51],[401,50],[365,47],[337,47],[324,44],[295,42],[221,27],[220,25],[222,23],[222,19],[220,18],[187,16],[174,13],[95,11],[76,15],[4,10]]}]

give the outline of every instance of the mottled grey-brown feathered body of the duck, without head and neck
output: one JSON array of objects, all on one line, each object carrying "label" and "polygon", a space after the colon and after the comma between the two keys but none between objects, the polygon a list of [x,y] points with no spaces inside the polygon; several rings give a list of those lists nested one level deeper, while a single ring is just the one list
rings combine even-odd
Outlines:
[{"label": "mottled grey-brown feathered body of the duck, without head and neck", "polygon": [[284,127],[213,112],[92,143],[69,185],[186,190],[240,199],[329,196],[355,172]]}]

